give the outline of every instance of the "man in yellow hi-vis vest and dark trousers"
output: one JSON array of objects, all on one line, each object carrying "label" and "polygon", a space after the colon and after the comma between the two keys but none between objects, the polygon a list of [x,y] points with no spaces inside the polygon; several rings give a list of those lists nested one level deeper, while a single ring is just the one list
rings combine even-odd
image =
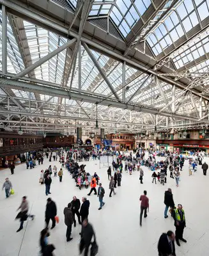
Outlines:
[{"label": "man in yellow hi-vis vest and dark trousers", "polygon": [[178,204],[178,208],[174,209],[173,218],[174,226],[176,227],[176,244],[180,246],[179,240],[187,243],[187,240],[183,239],[183,229],[186,227],[186,221],[185,212],[181,204]]}]

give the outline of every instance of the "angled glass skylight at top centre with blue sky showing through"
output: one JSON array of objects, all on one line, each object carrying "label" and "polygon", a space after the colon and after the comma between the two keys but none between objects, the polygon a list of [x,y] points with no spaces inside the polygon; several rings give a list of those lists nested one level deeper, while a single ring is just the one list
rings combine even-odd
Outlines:
[{"label": "angled glass skylight at top centre with blue sky showing through", "polygon": [[[151,0],[115,0],[114,4],[108,3],[112,0],[95,0],[94,2],[89,17],[109,15],[124,37],[130,33],[151,4]],[[104,4],[97,4],[97,2]]]}]

